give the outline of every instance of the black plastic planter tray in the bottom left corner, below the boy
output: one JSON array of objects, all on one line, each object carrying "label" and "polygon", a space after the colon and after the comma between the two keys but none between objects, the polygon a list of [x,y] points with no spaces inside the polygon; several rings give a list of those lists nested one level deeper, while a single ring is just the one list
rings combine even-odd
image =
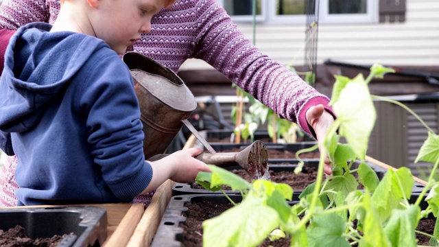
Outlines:
[{"label": "black plastic planter tray in the bottom left corner, below the boy", "polygon": [[1,230],[23,226],[31,239],[67,234],[58,246],[101,246],[107,237],[107,222],[107,211],[101,207],[0,209]]}]

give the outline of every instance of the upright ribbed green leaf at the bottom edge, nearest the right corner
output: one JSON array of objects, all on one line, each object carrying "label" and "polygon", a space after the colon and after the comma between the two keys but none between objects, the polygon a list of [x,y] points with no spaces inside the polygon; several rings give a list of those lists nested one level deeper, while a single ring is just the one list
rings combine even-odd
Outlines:
[{"label": "upright ribbed green leaf at the bottom edge, nearest the right corner", "polygon": [[384,231],[392,246],[416,246],[415,229],[418,226],[420,208],[410,205],[408,209],[394,209]]}]

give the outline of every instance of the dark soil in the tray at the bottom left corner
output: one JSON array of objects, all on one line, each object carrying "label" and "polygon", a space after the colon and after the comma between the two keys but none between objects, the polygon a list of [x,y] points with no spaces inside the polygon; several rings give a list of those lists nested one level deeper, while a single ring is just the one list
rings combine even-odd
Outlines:
[{"label": "dark soil in the tray at the bottom left corner", "polygon": [[23,226],[15,226],[8,231],[0,230],[0,246],[2,247],[49,247],[58,246],[66,235],[54,235],[54,237],[31,239],[26,236]]}]

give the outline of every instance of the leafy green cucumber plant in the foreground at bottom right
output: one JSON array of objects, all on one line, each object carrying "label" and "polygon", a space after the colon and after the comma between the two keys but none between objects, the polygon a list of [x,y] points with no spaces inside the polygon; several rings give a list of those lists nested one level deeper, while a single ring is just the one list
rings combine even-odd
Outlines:
[{"label": "leafy green cucumber plant in the foreground at bottom right", "polygon": [[[235,207],[203,222],[204,246],[258,246],[266,237],[283,235],[291,238],[291,246],[416,246],[418,221],[430,213],[438,217],[439,213],[439,183],[434,180],[439,164],[439,136],[403,104],[370,95],[368,82],[391,71],[375,64],[366,79],[361,74],[353,79],[335,76],[331,105],[337,119],[323,141],[316,182],[300,194],[300,202],[292,206],[287,203],[293,194],[289,185],[269,180],[248,183],[213,165],[209,165],[212,172],[200,172],[196,180],[206,189],[215,191],[221,185],[229,185],[243,196]],[[364,162],[376,119],[372,97],[399,104],[429,130],[415,162],[431,162],[434,167],[415,202],[410,201],[414,185],[410,169],[388,169],[380,181]],[[340,143],[341,137],[346,143]],[[327,156],[333,176],[323,180]],[[359,163],[358,168],[353,169],[354,163]],[[363,191],[357,189],[354,172],[364,185]],[[428,206],[421,210],[423,200]],[[434,234],[428,236],[431,245],[439,246],[438,224]]]}]

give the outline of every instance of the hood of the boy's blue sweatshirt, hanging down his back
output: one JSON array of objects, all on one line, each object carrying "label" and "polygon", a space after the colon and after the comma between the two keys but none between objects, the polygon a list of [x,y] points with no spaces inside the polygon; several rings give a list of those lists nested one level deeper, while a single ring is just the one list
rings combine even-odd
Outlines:
[{"label": "hood of the boy's blue sweatshirt, hanging down his back", "polygon": [[67,86],[103,40],[74,32],[49,32],[47,23],[29,23],[12,36],[0,78],[0,130],[32,128],[45,105]]}]

